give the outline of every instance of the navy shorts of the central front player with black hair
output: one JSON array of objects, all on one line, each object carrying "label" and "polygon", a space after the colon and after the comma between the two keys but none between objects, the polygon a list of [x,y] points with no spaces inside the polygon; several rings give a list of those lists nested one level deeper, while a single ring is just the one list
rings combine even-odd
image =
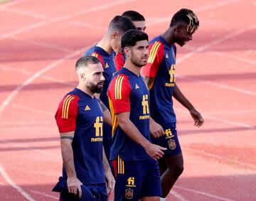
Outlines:
[{"label": "navy shorts of the central front player with black hair", "polygon": [[161,196],[159,166],[153,159],[122,161],[119,156],[112,161],[116,183],[114,200],[138,201],[142,197]]}]

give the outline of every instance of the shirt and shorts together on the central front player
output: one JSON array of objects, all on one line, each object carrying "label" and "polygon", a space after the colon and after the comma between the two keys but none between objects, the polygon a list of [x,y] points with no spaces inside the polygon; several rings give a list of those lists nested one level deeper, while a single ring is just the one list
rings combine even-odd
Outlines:
[{"label": "shirt and shorts together on the central front player", "polygon": [[117,114],[129,112],[129,119],[140,133],[149,136],[149,90],[141,76],[122,67],[110,82],[107,92],[113,119],[113,144],[110,160],[114,166],[116,187],[114,201],[134,200],[142,197],[160,196],[159,166],[144,148],[122,131]]}]

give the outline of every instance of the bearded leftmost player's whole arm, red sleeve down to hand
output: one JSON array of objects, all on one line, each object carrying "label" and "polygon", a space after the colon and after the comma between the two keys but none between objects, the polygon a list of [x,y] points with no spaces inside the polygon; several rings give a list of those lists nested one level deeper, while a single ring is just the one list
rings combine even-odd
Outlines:
[{"label": "bearded leftmost player's whole arm, red sleeve down to hand", "polygon": [[56,123],[60,132],[60,148],[65,171],[68,175],[68,192],[82,197],[82,183],[77,178],[74,164],[73,148],[71,143],[75,135],[76,118],[78,116],[78,97],[68,95],[63,98],[55,114]]}]

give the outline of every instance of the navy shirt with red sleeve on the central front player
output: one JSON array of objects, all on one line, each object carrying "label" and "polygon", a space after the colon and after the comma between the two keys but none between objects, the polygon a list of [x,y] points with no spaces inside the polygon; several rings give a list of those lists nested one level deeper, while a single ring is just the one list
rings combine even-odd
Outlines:
[{"label": "navy shirt with red sleeve on the central front player", "polygon": [[141,76],[123,67],[114,74],[108,92],[112,114],[113,144],[110,160],[119,155],[124,161],[140,161],[150,157],[142,146],[132,141],[118,126],[115,114],[130,112],[130,120],[141,134],[150,141],[149,136],[149,90]]}]

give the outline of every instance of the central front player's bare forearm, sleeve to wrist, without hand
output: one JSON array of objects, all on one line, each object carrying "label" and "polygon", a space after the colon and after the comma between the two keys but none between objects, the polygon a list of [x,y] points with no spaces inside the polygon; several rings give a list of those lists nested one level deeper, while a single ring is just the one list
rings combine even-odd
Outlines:
[{"label": "central front player's bare forearm, sleeve to wrist, without hand", "polygon": [[131,138],[136,143],[139,143],[143,148],[149,146],[150,142],[142,136],[137,127],[128,119],[118,119],[118,124],[122,131],[124,131],[129,138]]}]

